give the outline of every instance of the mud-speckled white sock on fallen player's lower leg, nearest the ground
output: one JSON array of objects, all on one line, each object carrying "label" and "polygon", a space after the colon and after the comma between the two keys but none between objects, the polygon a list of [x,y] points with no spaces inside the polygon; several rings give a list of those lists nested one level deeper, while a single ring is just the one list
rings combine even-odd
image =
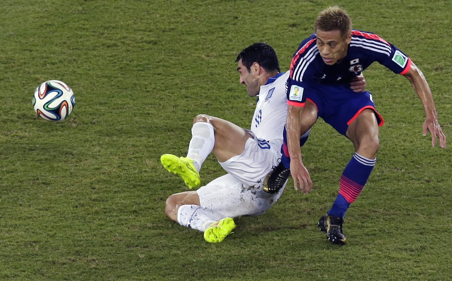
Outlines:
[{"label": "mud-speckled white sock on fallen player's lower leg, nearest the ground", "polygon": [[211,210],[199,205],[182,205],[177,210],[177,222],[204,232],[212,223],[221,220],[221,215],[214,214]]}]

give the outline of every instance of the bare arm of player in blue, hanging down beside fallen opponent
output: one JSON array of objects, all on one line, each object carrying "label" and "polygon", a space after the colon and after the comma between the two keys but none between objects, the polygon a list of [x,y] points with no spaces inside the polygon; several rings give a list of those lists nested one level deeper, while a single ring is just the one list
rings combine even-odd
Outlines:
[{"label": "bare arm of player in blue, hanging down beside fallen opponent", "polygon": [[301,160],[300,131],[301,131],[301,113],[303,107],[287,105],[287,146],[290,154],[290,171],[294,181],[295,190],[308,193],[312,189],[312,181],[309,172]]}]

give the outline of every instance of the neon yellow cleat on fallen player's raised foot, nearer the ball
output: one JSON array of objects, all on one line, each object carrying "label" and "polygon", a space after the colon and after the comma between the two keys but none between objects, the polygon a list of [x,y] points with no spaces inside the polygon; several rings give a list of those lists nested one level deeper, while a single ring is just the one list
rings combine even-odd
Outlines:
[{"label": "neon yellow cleat on fallen player's raised foot, nearer the ball", "polygon": [[199,172],[193,166],[193,159],[163,154],[160,157],[160,162],[166,170],[179,175],[189,189],[196,189],[201,186]]}]

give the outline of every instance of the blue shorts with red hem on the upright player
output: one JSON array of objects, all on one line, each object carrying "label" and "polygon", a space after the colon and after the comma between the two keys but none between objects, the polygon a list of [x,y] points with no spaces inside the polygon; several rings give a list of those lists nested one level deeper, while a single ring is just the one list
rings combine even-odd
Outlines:
[{"label": "blue shorts with red hem on the upright player", "polygon": [[370,92],[353,92],[348,88],[348,84],[309,84],[304,88],[304,95],[306,100],[311,101],[317,107],[317,116],[344,136],[347,133],[348,125],[367,108],[375,112],[378,126],[384,123],[383,118],[375,109]]}]

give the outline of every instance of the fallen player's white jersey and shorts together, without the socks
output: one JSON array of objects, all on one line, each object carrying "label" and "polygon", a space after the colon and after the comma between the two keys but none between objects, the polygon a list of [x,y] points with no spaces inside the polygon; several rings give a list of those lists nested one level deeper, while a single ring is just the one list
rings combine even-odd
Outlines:
[{"label": "fallen player's white jersey and shorts together, without the socks", "polygon": [[285,87],[288,77],[288,71],[278,74],[260,87],[251,121],[254,138],[247,140],[242,154],[220,162],[228,175],[197,190],[202,207],[212,209],[223,217],[260,215],[281,196],[285,184],[277,193],[270,194],[264,192],[262,182],[273,167],[278,165],[278,158],[281,157],[282,131],[287,115]]}]

